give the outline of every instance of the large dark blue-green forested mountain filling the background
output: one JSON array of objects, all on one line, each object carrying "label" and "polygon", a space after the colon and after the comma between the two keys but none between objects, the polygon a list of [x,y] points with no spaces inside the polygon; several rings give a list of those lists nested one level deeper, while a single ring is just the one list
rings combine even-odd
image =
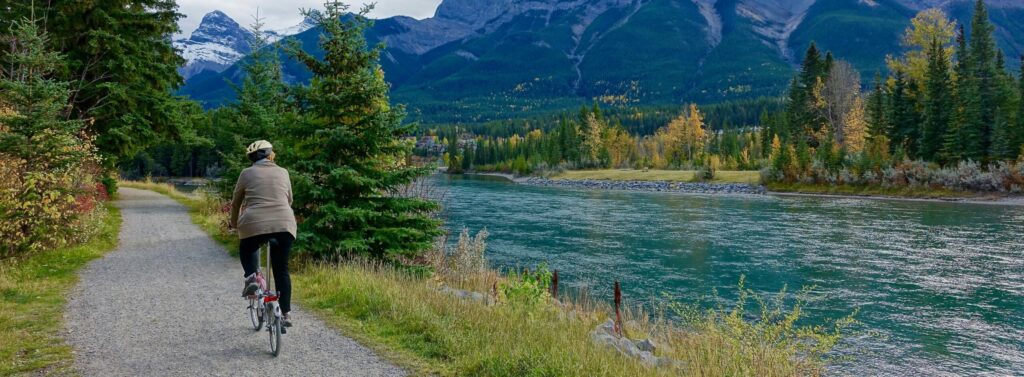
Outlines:
[{"label": "large dark blue-green forested mountain filling the background", "polygon": [[[433,17],[390,17],[384,42],[392,96],[413,119],[476,122],[614,104],[714,102],[778,95],[811,42],[864,76],[885,71],[920,10],[970,24],[971,0],[444,0]],[[999,46],[1024,51],[1024,3],[991,1]],[[317,52],[317,30],[295,36]],[[286,77],[309,75],[284,60]],[[182,93],[231,100],[236,65],[197,75]],[[865,82],[869,81],[867,78]]]}]

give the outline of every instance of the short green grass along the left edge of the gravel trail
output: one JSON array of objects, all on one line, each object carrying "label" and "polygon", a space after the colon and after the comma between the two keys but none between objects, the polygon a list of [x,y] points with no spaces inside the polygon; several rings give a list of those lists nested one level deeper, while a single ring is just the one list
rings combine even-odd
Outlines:
[{"label": "short green grass along the left edge of the gravel trail", "polygon": [[92,241],[0,264],[0,376],[74,373],[71,346],[60,336],[63,307],[78,270],[117,247],[121,214],[111,203],[104,208]]}]

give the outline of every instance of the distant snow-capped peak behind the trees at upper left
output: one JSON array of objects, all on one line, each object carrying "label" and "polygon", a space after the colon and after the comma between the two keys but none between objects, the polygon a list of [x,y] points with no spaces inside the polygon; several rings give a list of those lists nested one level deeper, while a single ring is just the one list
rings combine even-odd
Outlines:
[{"label": "distant snow-capped peak behind the trees at upper left", "polygon": [[[270,42],[311,29],[309,19],[291,28],[264,32]],[[240,58],[252,52],[249,43],[253,33],[219,10],[203,16],[199,28],[188,38],[174,40],[174,47],[181,51],[185,66],[179,72],[188,79],[203,71],[222,72]]]}]

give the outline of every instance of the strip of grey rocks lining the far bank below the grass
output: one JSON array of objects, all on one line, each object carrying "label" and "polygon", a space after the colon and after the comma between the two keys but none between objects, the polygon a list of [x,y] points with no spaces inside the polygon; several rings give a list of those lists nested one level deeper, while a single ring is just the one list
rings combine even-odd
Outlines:
[{"label": "strip of grey rocks lining the far bank below the grass", "polygon": [[686,194],[727,194],[727,195],[765,195],[768,194],[762,185],[745,183],[706,183],[706,182],[669,182],[642,180],[602,180],[602,179],[550,179],[545,177],[529,177],[516,179],[517,183],[571,187],[590,190],[616,190],[630,192],[654,193],[686,193]]}]

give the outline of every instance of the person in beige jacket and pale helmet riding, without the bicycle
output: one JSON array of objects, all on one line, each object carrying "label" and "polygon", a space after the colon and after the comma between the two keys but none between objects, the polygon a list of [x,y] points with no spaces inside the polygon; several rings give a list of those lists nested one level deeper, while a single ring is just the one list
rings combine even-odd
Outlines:
[{"label": "person in beige jacket and pale helmet riding, without the bicycle", "polygon": [[[292,326],[292,279],[288,275],[288,254],[295,241],[295,212],[292,211],[292,181],[288,170],[273,163],[273,145],[266,140],[249,144],[246,156],[252,166],[239,175],[231,200],[228,226],[239,232],[239,257],[245,269],[243,297],[256,293],[259,247],[270,242],[273,280],[281,291],[279,301],[284,325]],[[242,215],[239,216],[239,211]]]}]

